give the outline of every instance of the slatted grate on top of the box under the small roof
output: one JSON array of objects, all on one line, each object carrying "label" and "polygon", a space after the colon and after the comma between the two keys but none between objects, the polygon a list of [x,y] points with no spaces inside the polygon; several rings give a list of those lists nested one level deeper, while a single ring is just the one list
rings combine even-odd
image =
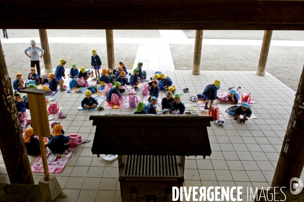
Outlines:
[{"label": "slatted grate on top of the box under the small roof", "polygon": [[128,155],[125,157],[124,176],[180,175],[178,156]]}]

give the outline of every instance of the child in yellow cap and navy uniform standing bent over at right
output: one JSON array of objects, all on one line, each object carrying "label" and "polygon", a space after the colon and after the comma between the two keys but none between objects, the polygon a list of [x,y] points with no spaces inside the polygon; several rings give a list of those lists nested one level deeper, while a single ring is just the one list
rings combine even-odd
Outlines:
[{"label": "child in yellow cap and navy uniform standing bent over at right", "polygon": [[209,84],[205,87],[203,93],[197,95],[199,100],[206,100],[205,109],[208,110],[208,104],[210,101],[210,107],[213,106],[214,99],[218,99],[217,89],[220,88],[220,81],[215,80],[213,84]]}]

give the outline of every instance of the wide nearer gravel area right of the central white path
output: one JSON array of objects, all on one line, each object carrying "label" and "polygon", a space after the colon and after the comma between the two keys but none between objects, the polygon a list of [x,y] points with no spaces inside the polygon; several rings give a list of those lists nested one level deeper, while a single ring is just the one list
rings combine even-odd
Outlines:
[{"label": "wide nearer gravel area right of the central white path", "polygon": [[[194,45],[170,44],[174,67],[193,67]],[[203,45],[201,70],[256,71],[260,46]],[[293,90],[303,68],[304,47],[272,46],[266,71]]]}]

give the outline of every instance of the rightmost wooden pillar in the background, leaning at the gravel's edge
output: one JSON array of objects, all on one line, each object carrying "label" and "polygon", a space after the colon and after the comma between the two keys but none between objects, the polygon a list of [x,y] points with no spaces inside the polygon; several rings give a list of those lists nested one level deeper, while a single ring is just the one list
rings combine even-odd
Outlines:
[{"label": "rightmost wooden pillar in the background, leaning at the gravel's edge", "polygon": [[270,47],[270,42],[271,42],[272,31],[273,30],[265,30],[265,32],[264,32],[260,59],[258,61],[257,71],[255,73],[256,75],[259,75],[259,76],[265,75],[265,67],[266,67],[266,63],[267,63],[267,57],[268,57],[268,52],[269,52],[269,47]]}]

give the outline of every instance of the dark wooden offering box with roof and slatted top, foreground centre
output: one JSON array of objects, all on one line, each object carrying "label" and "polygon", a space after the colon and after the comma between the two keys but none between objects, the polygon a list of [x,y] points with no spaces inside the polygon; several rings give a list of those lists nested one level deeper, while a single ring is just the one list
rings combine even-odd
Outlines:
[{"label": "dark wooden offering box with roof and slatted top, foreground centre", "polygon": [[118,155],[124,202],[171,201],[183,186],[185,156],[210,156],[207,126],[198,115],[90,116],[96,126],[92,153]]}]

